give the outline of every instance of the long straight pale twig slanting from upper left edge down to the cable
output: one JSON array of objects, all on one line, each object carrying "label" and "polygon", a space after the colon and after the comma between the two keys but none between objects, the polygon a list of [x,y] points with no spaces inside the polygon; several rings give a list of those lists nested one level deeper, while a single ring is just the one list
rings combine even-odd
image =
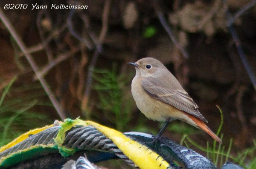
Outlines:
[{"label": "long straight pale twig slanting from upper left edge down to the cable", "polygon": [[[20,50],[24,53],[26,59],[28,60],[30,66],[32,67],[35,74],[39,77],[38,67],[37,67],[35,61],[33,60],[32,55],[27,52],[25,44],[18,36],[17,32],[15,31],[15,29],[13,28],[12,24],[7,19],[5,14],[3,13],[2,9],[0,9],[0,19],[2,20],[3,24],[6,26],[6,29],[8,29],[8,31],[10,32],[10,34],[16,41],[17,45],[20,47]],[[38,78],[38,80],[40,81],[41,85],[43,86],[43,88],[44,88],[45,92],[47,93],[49,99],[51,100],[54,108],[58,112],[58,115],[61,117],[61,120],[64,120],[66,118],[66,116],[64,115],[63,110],[62,110],[61,106],[59,105],[58,101],[55,99],[55,96],[53,95],[51,89],[49,88],[46,80],[44,78]]]}]

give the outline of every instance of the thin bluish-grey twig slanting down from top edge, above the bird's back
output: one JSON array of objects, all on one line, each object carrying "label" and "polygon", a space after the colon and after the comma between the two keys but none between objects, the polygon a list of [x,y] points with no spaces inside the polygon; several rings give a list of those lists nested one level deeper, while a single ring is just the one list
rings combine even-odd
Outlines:
[{"label": "thin bluish-grey twig slanting down from top edge, above the bird's back", "polygon": [[158,5],[156,0],[153,0],[153,6],[154,6],[154,10],[155,10],[157,17],[160,20],[160,23],[162,24],[163,28],[166,30],[167,34],[169,35],[169,37],[171,38],[171,40],[175,44],[175,46],[178,49],[180,49],[180,52],[187,59],[189,57],[189,54],[186,52],[185,49],[183,49],[183,47],[180,45],[180,43],[176,40],[174,34],[172,33],[171,28],[169,27],[169,25],[167,24],[167,22],[164,18],[163,11],[160,10],[160,6]]}]

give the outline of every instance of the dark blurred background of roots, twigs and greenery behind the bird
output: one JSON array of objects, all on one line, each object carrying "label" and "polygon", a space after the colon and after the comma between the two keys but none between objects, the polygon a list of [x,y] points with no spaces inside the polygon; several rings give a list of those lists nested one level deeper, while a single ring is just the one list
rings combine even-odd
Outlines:
[{"label": "dark blurred background of roots, twigs and greenery behind the bird", "polygon": [[[12,3],[14,9],[4,10]],[[224,158],[255,166],[255,3],[1,0],[1,145],[67,117],[156,134],[163,124],[137,109],[131,95],[135,70],[127,65],[154,57],[177,77],[214,132],[223,122]],[[54,9],[61,4],[84,9]],[[164,135],[204,155],[200,147],[213,142],[180,121]]]}]

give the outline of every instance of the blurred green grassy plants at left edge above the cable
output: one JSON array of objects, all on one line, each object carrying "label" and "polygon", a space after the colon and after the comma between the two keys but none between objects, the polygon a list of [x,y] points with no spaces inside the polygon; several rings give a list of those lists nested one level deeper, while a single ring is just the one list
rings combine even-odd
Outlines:
[{"label": "blurred green grassy plants at left edge above the cable", "polygon": [[46,115],[31,110],[37,105],[50,105],[37,99],[40,95],[45,94],[37,93],[36,95],[15,97],[11,91],[15,80],[16,77],[5,87],[0,97],[0,146],[9,143],[30,129],[45,126],[47,123]]}]

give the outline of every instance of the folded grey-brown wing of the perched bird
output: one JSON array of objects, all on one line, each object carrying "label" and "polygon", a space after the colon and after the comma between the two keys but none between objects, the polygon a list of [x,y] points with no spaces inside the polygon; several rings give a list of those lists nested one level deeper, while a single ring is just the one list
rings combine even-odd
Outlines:
[{"label": "folded grey-brown wing of the perched bird", "polygon": [[166,89],[164,84],[161,85],[159,82],[155,83],[151,77],[147,77],[142,80],[142,87],[151,97],[154,97],[164,103],[168,103],[177,109],[187,112],[208,123],[204,116],[199,112],[198,105],[184,90],[174,91],[171,90],[170,87],[167,87]]}]

